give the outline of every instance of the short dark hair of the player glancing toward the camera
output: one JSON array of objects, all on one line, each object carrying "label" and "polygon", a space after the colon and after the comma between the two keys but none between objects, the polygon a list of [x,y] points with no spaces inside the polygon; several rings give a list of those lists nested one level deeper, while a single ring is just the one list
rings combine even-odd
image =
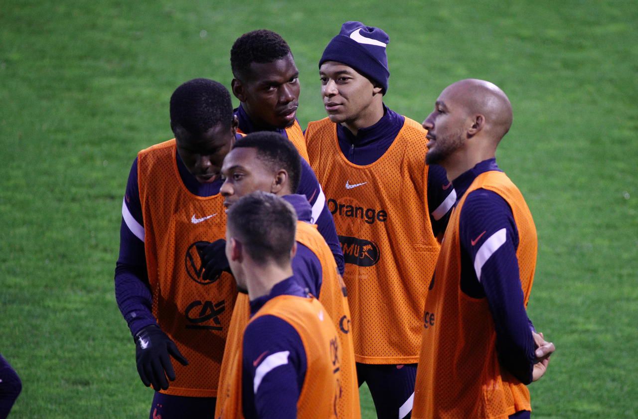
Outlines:
[{"label": "short dark hair of the player glancing toward the camera", "polygon": [[230,68],[234,77],[241,80],[248,76],[253,62],[273,62],[288,54],[292,55],[290,47],[278,33],[259,29],[245,33],[235,40],[230,48]]}]

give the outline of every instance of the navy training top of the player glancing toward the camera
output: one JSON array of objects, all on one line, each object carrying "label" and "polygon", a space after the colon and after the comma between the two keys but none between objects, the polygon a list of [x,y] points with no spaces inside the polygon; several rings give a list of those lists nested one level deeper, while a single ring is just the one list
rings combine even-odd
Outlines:
[{"label": "navy training top of the player glancing toward the camera", "polygon": [[[245,134],[253,133],[255,131],[269,130],[277,132],[288,138],[288,133],[286,133],[285,129],[256,127],[248,114],[246,114],[246,110],[244,110],[241,105],[239,105],[239,108],[235,109],[235,116],[237,116],[237,119],[239,120],[239,129],[241,129],[241,131]],[[325,195],[323,195],[323,191],[319,185],[315,172],[313,172],[308,162],[304,159],[301,159],[301,176],[297,193],[306,195],[306,198],[308,198],[312,207],[312,222],[317,224],[317,230],[321,233],[323,239],[325,239],[325,242],[330,247],[332,256],[334,256],[334,261],[337,263],[339,274],[343,275],[345,261],[343,259],[341,245],[339,244],[339,238],[337,237],[337,230],[334,227],[334,219],[332,219],[332,214],[330,214],[328,204],[325,200]]]}]

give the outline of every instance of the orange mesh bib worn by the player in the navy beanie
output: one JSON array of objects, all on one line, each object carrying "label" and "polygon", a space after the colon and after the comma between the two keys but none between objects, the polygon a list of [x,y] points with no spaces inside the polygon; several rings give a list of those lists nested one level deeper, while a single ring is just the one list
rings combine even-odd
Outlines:
[{"label": "orange mesh bib worn by the player in the navy beanie", "polygon": [[439,250],[427,209],[425,134],[406,118],[385,154],[358,166],[343,156],[329,119],[306,130],[346,261],[355,358],[364,364],[419,359],[423,304]]}]

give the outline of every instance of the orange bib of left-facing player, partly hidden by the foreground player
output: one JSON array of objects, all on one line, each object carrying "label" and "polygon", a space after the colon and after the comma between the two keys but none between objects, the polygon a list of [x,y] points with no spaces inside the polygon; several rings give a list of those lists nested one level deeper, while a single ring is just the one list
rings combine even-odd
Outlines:
[{"label": "orange bib of left-facing player, partly hidden by the foreground player", "polygon": [[[341,363],[341,388],[337,404],[339,418],[359,419],[359,385],[354,360],[352,334],[350,333],[350,309],[345,296],[345,284],[338,274],[337,265],[330,248],[314,224],[297,221],[295,240],[308,247],[322,266],[323,278],[319,302],[334,320],[339,338],[339,361]],[[235,312],[230,323],[226,350],[219,376],[219,396],[215,408],[216,418],[242,418],[241,415],[241,339],[249,321],[248,296],[239,294]],[[239,406],[239,410],[237,407]]]}]

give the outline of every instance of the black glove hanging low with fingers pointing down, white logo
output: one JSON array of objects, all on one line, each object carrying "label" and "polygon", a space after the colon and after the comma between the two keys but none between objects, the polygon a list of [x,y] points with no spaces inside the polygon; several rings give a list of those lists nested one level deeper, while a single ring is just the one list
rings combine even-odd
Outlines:
[{"label": "black glove hanging low with fingers pointing down, white logo", "polygon": [[137,372],[145,386],[152,385],[155,391],[166,390],[168,379],[175,379],[175,370],[171,364],[172,355],[180,364],[188,365],[188,361],[177,349],[175,342],[156,325],[142,328],[135,335],[135,360]]}]

